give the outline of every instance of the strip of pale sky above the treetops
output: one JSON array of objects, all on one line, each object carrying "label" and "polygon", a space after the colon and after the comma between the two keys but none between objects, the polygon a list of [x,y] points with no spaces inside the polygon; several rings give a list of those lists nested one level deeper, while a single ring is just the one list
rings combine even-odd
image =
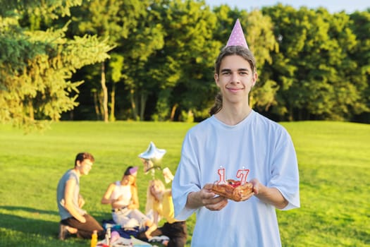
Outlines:
[{"label": "strip of pale sky above the treetops", "polygon": [[353,13],[354,11],[366,11],[370,8],[369,0],[206,0],[209,6],[219,6],[227,4],[231,8],[238,7],[246,11],[252,11],[254,8],[261,8],[262,6],[274,6],[276,4],[290,5],[294,8],[306,6],[307,8],[324,7],[330,13],[345,11],[346,13]]}]

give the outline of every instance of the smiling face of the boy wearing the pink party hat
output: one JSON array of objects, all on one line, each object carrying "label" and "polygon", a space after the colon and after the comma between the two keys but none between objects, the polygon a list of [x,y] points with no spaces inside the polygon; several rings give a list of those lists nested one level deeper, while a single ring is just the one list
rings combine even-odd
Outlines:
[{"label": "smiling face of the boy wearing the pink party hat", "polygon": [[226,56],[221,61],[220,73],[214,75],[221,90],[224,103],[238,103],[248,99],[252,85],[257,80],[257,73],[242,56]]}]

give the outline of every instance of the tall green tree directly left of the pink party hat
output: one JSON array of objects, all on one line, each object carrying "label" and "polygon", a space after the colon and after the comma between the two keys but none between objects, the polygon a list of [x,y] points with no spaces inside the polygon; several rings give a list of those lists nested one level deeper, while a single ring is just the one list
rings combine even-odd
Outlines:
[{"label": "tall green tree directly left of the pink party hat", "polygon": [[212,72],[221,45],[213,36],[216,15],[204,1],[176,0],[169,8],[164,54],[171,71],[165,81],[172,87],[163,88],[159,103],[171,106],[167,108],[171,120],[204,119],[216,95]]}]

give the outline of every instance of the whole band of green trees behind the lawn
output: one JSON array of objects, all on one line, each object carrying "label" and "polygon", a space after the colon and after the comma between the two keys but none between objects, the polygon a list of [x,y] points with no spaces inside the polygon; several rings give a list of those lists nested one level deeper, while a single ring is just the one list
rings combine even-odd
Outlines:
[{"label": "whole band of green trees behind the lawn", "polygon": [[218,91],[214,60],[237,18],[257,59],[255,109],[276,120],[370,116],[369,11],[211,10],[201,0],[0,4],[1,122],[29,126],[62,113],[108,121],[108,106],[111,121],[183,121],[183,112],[201,121]]}]

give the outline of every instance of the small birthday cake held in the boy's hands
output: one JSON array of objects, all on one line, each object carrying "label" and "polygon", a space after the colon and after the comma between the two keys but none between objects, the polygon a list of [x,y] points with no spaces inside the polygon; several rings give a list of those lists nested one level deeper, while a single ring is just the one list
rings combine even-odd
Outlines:
[{"label": "small birthday cake held in the boy's hands", "polygon": [[241,184],[240,181],[235,181],[233,179],[226,180],[226,183],[214,183],[211,191],[230,200],[235,200],[236,202],[247,200],[254,195],[252,183]]}]

